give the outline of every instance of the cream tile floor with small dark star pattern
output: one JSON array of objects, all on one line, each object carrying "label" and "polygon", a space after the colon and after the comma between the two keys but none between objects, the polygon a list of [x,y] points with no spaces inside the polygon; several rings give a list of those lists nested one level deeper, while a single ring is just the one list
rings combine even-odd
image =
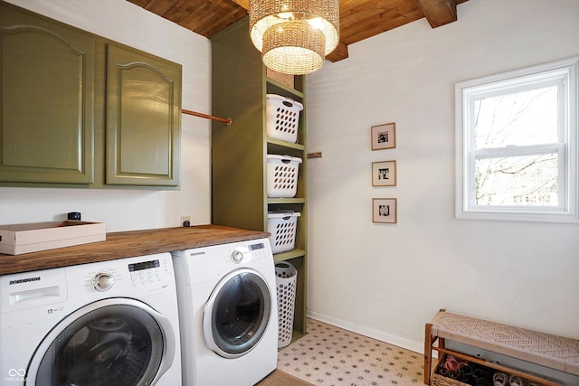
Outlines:
[{"label": "cream tile floor with small dark star pattern", "polygon": [[280,350],[278,369],[316,386],[423,385],[422,353],[308,319],[308,334]]}]

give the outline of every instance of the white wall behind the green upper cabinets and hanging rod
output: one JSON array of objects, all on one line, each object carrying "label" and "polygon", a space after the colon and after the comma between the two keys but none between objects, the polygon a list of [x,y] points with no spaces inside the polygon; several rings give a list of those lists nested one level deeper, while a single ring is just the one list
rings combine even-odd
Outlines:
[{"label": "white wall behind the green upper cabinets and hanging rod", "polygon": [[[211,43],[122,0],[9,0],[53,19],[183,65],[183,108],[211,112]],[[0,224],[59,221],[82,212],[107,231],[131,231],[211,221],[211,123],[184,115],[181,190],[88,190],[0,187]]]}]

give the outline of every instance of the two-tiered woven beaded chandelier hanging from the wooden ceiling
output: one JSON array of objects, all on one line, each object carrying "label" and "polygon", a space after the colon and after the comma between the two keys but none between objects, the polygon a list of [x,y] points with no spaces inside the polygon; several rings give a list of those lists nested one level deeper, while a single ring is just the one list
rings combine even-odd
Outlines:
[{"label": "two-tiered woven beaded chandelier hanging from the wooden ceiling", "polygon": [[318,70],[339,42],[339,0],[250,0],[250,36],[273,71]]}]

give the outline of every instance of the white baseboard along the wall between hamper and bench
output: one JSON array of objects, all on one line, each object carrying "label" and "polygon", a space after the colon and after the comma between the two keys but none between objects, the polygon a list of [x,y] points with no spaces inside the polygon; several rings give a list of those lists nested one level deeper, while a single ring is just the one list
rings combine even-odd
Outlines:
[{"label": "white baseboard along the wall between hamper and bench", "polygon": [[424,342],[414,341],[413,339],[408,339],[397,334],[384,333],[373,328],[365,327],[364,325],[354,325],[344,320],[337,319],[336,317],[324,315],[316,311],[308,310],[307,315],[312,319],[327,323],[328,325],[335,325],[353,333],[362,334],[386,344],[394,344],[395,346],[423,355]]}]

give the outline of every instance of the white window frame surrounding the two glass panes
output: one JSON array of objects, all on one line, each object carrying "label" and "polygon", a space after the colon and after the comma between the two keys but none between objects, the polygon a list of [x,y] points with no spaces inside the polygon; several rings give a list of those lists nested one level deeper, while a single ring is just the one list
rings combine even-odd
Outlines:
[{"label": "white window frame surrounding the two glass panes", "polygon": [[[455,84],[456,208],[457,219],[579,223],[579,57]],[[557,143],[475,149],[474,100],[482,95],[506,94],[557,84],[559,127]],[[480,157],[558,155],[558,206],[501,206],[475,204],[475,162]]]}]

